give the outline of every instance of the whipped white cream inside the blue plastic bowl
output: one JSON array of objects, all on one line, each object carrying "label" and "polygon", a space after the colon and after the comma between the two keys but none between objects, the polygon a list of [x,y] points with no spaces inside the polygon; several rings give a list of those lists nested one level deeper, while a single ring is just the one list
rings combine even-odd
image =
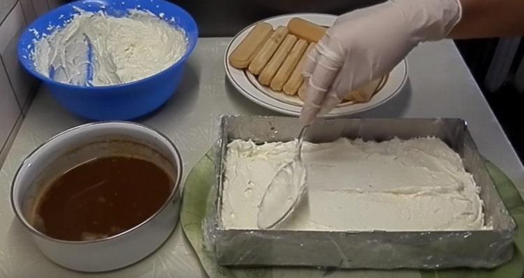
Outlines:
[{"label": "whipped white cream inside the blue plastic bowl", "polygon": [[[89,47],[92,46],[92,63]],[[187,47],[182,30],[152,13],[131,10],[112,17],[102,11],[80,11],[66,26],[35,44],[38,72],[73,85],[108,86],[133,82],[175,64]],[[92,81],[88,82],[88,66]]]}]

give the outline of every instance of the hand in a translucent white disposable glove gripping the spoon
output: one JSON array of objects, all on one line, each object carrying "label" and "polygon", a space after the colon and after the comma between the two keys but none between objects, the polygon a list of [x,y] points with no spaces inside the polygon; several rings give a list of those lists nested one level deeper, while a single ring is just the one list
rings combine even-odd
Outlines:
[{"label": "hand in a translucent white disposable glove gripping the spoon", "polygon": [[458,0],[389,0],[338,17],[305,62],[303,124],[391,71],[419,43],[445,38],[461,13]]}]

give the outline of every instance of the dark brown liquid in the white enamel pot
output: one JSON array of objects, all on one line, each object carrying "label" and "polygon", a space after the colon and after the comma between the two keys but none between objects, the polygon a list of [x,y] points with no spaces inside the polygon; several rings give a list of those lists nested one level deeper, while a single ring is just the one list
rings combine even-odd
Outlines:
[{"label": "dark brown liquid in the white enamel pot", "polygon": [[129,230],[166,202],[173,181],[150,161],[123,156],[82,163],[54,180],[38,202],[43,233],[95,240]]}]

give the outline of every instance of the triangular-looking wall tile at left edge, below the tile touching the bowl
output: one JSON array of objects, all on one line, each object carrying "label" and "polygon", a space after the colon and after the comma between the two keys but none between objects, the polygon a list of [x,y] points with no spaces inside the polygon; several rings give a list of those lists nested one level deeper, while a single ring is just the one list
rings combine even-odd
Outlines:
[{"label": "triangular-looking wall tile at left edge, below the tile touching the bowl", "polygon": [[20,108],[9,85],[6,71],[0,64],[0,148],[8,139],[20,114]]}]

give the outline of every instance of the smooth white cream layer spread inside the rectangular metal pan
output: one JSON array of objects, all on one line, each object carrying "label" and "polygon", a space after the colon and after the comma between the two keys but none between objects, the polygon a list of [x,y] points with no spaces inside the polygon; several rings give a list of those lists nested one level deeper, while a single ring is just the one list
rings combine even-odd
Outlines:
[{"label": "smooth white cream layer spread inside the rectangular metal pan", "polygon": [[[259,204],[295,143],[228,145],[224,228],[256,229]],[[442,140],[304,143],[307,198],[278,228],[314,231],[450,231],[484,227],[482,201],[460,156]]]}]

